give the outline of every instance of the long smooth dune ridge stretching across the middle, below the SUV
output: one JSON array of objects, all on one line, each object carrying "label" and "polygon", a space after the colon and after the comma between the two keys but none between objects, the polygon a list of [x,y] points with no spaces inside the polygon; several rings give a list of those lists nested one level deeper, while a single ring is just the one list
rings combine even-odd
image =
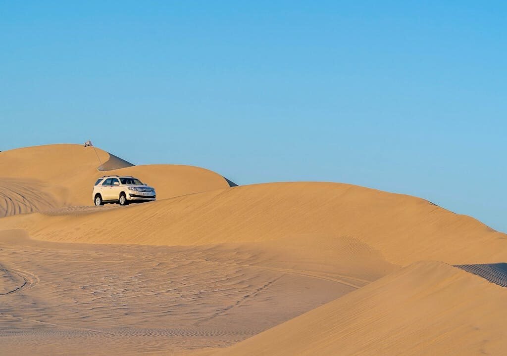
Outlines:
[{"label": "long smooth dune ridge stretching across the middle, below the SUV", "polygon": [[[146,229],[143,221],[150,221]],[[337,183],[226,188],[88,215],[30,215],[6,221],[59,242],[205,245],[281,242],[311,261],[341,256],[342,242],[388,262],[449,264],[507,260],[507,236],[416,197]],[[7,226],[6,225],[6,226]],[[68,229],[67,226],[76,226]],[[96,226],[101,226],[97,229]],[[304,248],[300,248],[304,245]],[[297,248],[294,248],[297,246]],[[312,254],[315,252],[314,254]],[[368,260],[367,258],[360,258]]]}]

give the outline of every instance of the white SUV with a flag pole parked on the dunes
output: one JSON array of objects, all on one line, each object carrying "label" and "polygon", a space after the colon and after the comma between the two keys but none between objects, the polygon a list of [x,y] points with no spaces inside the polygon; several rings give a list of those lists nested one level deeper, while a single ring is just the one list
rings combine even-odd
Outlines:
[{"label": "white SUV with a flag pole parked on the dunes", "polygon": [[155,199],[155,188],[132,176],[103,176],[93,186],[93,203],[97,206],[104,203],[128,205],[134,202],[153,202]]}]

